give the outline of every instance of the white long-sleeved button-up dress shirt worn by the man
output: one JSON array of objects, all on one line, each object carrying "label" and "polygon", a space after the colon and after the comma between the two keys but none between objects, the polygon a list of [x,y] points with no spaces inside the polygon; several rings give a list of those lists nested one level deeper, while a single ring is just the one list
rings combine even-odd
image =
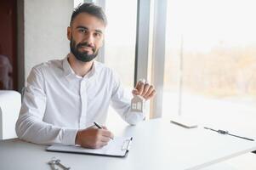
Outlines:
[{"label": "white long-sleeved button-up dress shirt worn by the man", "polygon": [[109,105],[132,125],[144,114],[130,111],[128,99],[117,75],[94,61],[84,77],[71,69],[68,56],[32,68],[16,133],[37,144],[75,144],[78,129],[105,124]]}]

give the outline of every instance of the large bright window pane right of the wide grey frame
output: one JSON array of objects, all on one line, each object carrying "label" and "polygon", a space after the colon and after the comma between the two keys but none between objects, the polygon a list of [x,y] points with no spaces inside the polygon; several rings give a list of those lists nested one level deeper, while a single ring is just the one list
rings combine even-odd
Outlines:
[{"label": "large bright window pane right of the wide grey frame", "polygon": [[163,116],[255,115],[253,7],[248,0],[168,1]]}]

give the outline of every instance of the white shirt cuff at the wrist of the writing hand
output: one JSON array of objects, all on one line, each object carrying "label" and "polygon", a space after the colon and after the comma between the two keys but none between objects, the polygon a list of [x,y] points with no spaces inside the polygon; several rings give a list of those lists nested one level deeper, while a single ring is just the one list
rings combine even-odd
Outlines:
[{"label": "white shirt cuff at the wrist of the writing hand", "polygon": [[77,129],[64,128],[63,129],[62,144],[75,145],[77,131],[78,131]]}]

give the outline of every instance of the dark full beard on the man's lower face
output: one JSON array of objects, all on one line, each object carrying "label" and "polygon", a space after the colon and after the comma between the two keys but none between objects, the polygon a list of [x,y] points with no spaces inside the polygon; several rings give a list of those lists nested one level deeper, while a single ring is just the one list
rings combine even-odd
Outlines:
[{"label": "dark full beard on the man's lower face", "polygon": [[[78,48],[81,48],[83,46],[92,48],[93,54],[88,54],[88,52],[80,52],[78,50]],[[78,59],[82,62],[89,62],[89,61],[93,60],[98,55],[98,50],[96,51],[96,49],[91,47],[88,44],[88,42],[82,42],[82,43],[78,43],[76,45],[76,42],[73,40],[73,38],[71,38],[70,48],[71,48],[71,53],[74,54],[76,59]]]}]

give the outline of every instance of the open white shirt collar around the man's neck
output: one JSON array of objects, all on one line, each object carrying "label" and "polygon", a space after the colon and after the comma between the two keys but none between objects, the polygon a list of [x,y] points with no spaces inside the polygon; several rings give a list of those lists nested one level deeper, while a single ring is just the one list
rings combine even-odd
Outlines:
[{"label": "open white shirt collar around the man's neck", "polygon": [[88,71],[88,74],[86,74],[84,77],[79,77],[76,75],[75,71],[73,71],[73,69],[71,68],[71,65],[68,62],[68,58],[69,58],[69,54],[63,60],[63,70],[64,70],[65,77],[90,78],[96,75],[99,70],[99,64],[97,61],[94,60],[91,71]]}]

